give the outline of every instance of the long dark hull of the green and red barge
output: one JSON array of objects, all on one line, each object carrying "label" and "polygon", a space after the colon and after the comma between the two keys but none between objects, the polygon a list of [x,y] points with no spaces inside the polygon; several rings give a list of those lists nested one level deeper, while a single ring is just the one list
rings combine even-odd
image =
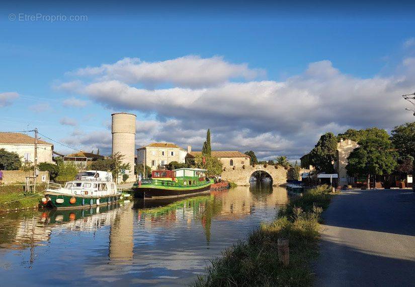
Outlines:
[{"label": "long dark hull of the green and red barge", "polygon": [[134,196],[145,199],[184,197],[192,194],[210,192],[210,183],[195,188],[167,188],[159,186],[133,187]]}]

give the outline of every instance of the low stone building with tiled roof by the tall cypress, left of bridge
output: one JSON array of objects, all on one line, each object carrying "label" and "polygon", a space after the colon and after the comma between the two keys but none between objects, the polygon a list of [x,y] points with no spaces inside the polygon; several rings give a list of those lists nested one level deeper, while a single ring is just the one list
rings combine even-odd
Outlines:
[{"label": "low stone building with tiled roof by the tall cypress, left of bridge", "polygon": [[[197,155],[201,155],[202,152],[192,152],[191,147],[188,147],[188,154],[186,161],[189,162],[194,159]],[[225,169],[241,168],[242,166],[248,167],[251,165],[251,158],[238,151],[212,151],[212,156],[218,158]]]}]

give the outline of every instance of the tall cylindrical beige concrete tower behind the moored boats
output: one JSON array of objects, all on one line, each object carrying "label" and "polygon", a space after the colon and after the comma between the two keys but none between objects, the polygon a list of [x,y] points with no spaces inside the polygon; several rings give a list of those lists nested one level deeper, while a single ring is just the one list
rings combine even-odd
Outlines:
[{"label": "tall cylindrical beige concrete tower behind the moored boats", "polygon": [[[126,112],[111,114],[112,116],[112,154],[120,153],[124,156],[123,163],[130,164],[127,182],[135,181],[135,119],[136,115]],[[121,177],[122,178],[122,177]]]}]

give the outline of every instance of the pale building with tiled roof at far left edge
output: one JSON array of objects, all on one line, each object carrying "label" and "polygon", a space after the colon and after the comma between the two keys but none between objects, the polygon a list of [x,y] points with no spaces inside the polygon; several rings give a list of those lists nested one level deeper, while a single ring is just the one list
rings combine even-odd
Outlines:
[{"label": "pale building with tiled roof at far left edge", "polygon": [[[0,149],[17,153],[22,162],[35,160],[35,138],[20,132],[0,132]],[[52,163],[53,145],[42,139],[37,142],[38,163]]]}]

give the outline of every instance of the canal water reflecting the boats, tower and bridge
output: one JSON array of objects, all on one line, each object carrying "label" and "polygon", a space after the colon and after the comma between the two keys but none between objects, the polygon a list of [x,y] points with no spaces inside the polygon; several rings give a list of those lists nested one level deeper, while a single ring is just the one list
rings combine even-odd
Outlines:
[{"label": "canal water reflecting the boats, tower and bridge", "polygon": [[178,201],[0,214],[0,285],[187,285],[272,220],[287,191],[254,184]]}]

